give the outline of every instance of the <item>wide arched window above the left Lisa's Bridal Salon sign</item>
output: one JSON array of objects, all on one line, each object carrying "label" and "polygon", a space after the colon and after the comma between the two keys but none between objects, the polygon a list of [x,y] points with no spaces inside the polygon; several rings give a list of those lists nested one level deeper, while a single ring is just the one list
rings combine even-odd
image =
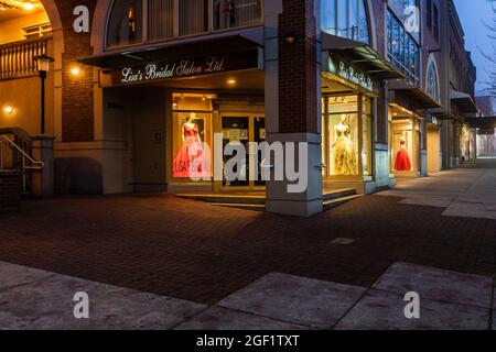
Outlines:
[{"label": "wide arched window above the left Lisa's Bridal Salon sign", "polygon": [[261,25],[261,0],[115,0],[110,47]]}]

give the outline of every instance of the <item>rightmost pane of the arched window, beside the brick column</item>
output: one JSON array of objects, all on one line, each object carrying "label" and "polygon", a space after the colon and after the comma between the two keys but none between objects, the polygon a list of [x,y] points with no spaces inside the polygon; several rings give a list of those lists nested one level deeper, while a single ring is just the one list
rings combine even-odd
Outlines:
[{"label": "rightmost pane of the arched window, beside the brick column", "polygon": [[256,0],[214,0],[214,30],[227,30],[261,22],[262,4]]}]

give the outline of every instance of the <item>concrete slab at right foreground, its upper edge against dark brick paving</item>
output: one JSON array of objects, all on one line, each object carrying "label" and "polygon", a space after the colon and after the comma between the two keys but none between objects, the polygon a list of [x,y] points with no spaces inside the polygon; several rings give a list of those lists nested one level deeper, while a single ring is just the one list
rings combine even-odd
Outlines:
[{"label": "concrete slab at right foreground, its upper edge against dark brick paving", "polygon": [[399,295],[416,292],[422,299],[489,308],[493,278],[396,263],[378,279],[374,288]]}]

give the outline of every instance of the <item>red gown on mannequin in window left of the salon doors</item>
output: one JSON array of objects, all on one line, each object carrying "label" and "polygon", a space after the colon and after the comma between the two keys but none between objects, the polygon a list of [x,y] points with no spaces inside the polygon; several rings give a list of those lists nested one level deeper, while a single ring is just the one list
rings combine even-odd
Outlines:
[{"label": "red gown on mannequin in window left of the salon doors", "polygon": [[184,143],[173,164],[173,177],[203,178],[211,177],[211,157],[198,140],[198,125],[184,124]]}]

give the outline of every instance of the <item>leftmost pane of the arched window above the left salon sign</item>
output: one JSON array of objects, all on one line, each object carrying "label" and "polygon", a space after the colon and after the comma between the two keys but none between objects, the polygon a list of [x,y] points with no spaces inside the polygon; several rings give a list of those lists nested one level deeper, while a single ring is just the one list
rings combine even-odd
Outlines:
[{"label": "leftmost pane of the arched window above the left salon sign", "polygon": [[140,43],[143,40],[142,0],[116,0],[108,24],[109,46]]}]

